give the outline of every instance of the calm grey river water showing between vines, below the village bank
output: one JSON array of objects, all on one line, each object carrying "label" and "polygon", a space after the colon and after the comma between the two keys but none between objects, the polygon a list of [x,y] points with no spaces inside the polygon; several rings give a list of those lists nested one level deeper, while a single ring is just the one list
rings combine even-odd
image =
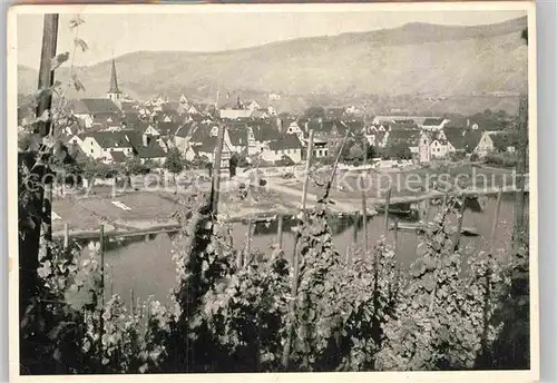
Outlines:
[{"label": "calm grey river water showing between vines, below the village bank", "polygon": [[[461,243],[469,251],[488,249],[490,233],[496,207],[495,198],[489,198],[483,212],[467,209],[463,227],[473,227],[479,236],[461,237]],[[436,207],[431,207],[429,217],[432,218]],[[507,251],[511,243],[512,233],[512,196],[504,196],[496,232],[496,249],[498,257],[505,262]],[[334,242],[342,256],[353,244],[353,224],[350,218],[334,219],[330,223],[335,232]],[[252,248],[270,253],[270,246],[276,242],[276,222],[254,225]],[[234,247],[242,248],[246,242],[247,226],[234,224]],[[379,239],[384,229],[384,216],[377,215],[368,220],[368,237],[370,247]],[[358,245],[361,244],[361,230],[358,232]],[[287,255],[292,254],[294,235],[289,230],[287,220],[283,234],[283,248]],[[393,232],[389,232],[388,240],[394,243]],[[399,232],[397,240],[397,261],[402,269],[408,269],[417,257],[419,236],[416,233]],[[145,299],[153,295],[162,302],[169,302],[170,288],[176,286],[176,271],[172,259],[172,239],[167,234],[159,234],[145,242],[139,240],[106,252],[106,293],[119,294],[125,302],[129,302],[130,289],[137,298]],[[466,253],[466,252],[465,252]],[[462,267],[466,268],[466,262]]]}]

